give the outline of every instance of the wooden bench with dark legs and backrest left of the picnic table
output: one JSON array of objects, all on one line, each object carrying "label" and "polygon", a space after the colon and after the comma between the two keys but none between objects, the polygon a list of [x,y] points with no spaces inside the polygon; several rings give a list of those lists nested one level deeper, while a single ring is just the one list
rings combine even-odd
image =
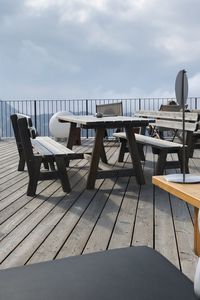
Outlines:
[{"label": "wooden bench with dark legs and backrest left of the picnic table", "polygon": [[[20,138],[20,165],[27,164],[29,183],[28,196],[35,196],[39,180],[60,179],[63,191],[70,192],[70,183],[66,166],[74,152],[49,137],[36,137],[32,121],[28,116],[16,116]],[[11,118],[14,118],[13,115]],[[42,170],[41,164],[50,164],[51,170]],[[56,167],[55,167],[56,165]]]}]

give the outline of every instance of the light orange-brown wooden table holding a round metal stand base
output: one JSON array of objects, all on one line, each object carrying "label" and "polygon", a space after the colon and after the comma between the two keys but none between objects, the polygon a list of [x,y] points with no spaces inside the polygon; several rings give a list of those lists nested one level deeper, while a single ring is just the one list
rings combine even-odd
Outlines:
[{"label": "light orange-brown wooden table holding a round metal stand base", "polygon": [[198,229],[198,212],[200,208],[200,183],[168,182],[165,176],[153,176],[152,183],[166,192],[194,206],[194,252],[200,256],[200,235]]}]

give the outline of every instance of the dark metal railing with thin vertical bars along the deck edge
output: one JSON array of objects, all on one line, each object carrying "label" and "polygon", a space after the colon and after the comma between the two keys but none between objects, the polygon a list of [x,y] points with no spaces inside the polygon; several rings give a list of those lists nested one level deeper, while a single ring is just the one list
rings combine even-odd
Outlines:
[{"label": "dark metal railing with thin vertical bars along the deck edge", "polygon": [[[123,103],[123,114],[132,116],[138,110],[158,110],[174,98],[129,98],[129,99],[71,99],[71,100],[0,100],[0,138],[13,136],[10,115],[23,113],[31,116],[40,135],[50,135],[49,120],[58,111],[75,115],[94,115],[96,105],[113,102]],[[200,109],[200,97],[187,101],[188,109]],[[93,136],[93,131],[82,131],[82,136]]]}]

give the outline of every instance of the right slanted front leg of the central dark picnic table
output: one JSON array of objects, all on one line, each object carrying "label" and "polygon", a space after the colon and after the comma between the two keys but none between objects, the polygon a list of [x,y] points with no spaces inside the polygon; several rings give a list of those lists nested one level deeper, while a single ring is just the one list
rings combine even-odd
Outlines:
[{"label": "right slanted front leg of the central dark picnic table", "polygon": [[135,140],[135,134],[133,132],[133,128],[127,126],[125,127],[125,131],[126,131],[126,137],[129,145],[129,152],[133,163],[133,168],[135,169],[136,180],[139,184],[144,184],[145,183],[144,174],[142,171],[142,165],[140,162],[140,156],[138,153],[138,147]]}]

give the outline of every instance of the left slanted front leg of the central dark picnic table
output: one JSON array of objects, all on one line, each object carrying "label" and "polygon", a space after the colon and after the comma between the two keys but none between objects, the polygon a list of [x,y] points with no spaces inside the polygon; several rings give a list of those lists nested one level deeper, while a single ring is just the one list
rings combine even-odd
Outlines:
[{"label": "left slanted front leg of the central dark picnic table", "polygon": [[99,165],[100,156],[102,154],[104,132],[105,132],[104,128],[98,128],[96,130],[90,169],[87,178],[87,185],[86,185],[87,189],[93,189],[95,186],[97,169]]}]

